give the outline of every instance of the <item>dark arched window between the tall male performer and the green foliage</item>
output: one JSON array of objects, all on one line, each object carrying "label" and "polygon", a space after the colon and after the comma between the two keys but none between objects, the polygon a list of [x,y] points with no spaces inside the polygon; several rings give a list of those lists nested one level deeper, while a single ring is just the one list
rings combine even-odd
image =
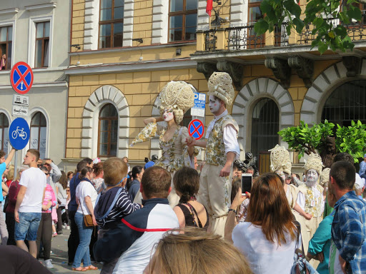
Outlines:
[{"label": "dark arched window between the tall male performer and the green foliage", "polygon": [[280,111],[272,99],[263,98],[254,106],[252,113],[252,148],[250,152],[259,160],[260,171],[267,171],[261,167],[263,163],[260,163],[261,158],[267,157],[261,156],[268,154],[268,150],[274,148],[279,141],[277,134],[280,130],[279,116]]}]

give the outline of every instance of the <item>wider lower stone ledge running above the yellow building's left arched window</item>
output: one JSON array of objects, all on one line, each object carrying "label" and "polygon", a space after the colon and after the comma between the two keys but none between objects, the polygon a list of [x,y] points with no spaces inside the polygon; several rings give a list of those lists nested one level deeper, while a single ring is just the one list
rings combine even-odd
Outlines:
[{"label": "wider lower stone ledge running above the yellow building's left arched window", "polygon": [[191,59],[169,59],[163,61],[142,61],[138,63],[119,64],[91,64],[89,66],[70,66],[65,74],[69,76],[103,74],[103,73],[124,73],[136,71],[156,71],[160,69],[181,69],[196,68],[197,61]]}]

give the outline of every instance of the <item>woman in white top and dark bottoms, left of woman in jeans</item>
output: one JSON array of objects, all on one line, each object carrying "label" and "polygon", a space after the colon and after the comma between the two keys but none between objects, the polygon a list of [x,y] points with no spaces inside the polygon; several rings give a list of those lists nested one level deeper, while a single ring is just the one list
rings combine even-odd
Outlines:
[{"label": "woman in white top and dark bottoms, left of woman in jeans", "polygon": [[[64,171],[61,171],[61,177],[59,181],[56,183],[56,191],[57,191],[57,202],[59,203],[59,207],[57,208],[57,234],[62,234],[62,225],[65,223],[66,225],[69,223],[69,216],[67,215],[66,200],[67,200],[67,176]],[[62,215],[64,215],[64,220],[62,220]]]}]

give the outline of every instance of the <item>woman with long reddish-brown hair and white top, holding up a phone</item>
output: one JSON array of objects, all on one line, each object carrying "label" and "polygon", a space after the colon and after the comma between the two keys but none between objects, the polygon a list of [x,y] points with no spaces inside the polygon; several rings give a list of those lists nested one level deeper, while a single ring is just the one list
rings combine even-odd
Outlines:
[{"label": "woman with long reddish-brown hair and white top, holding up a phone", "polygon": [[254,274],[290,273],[297,228],[279,176],[267,173],[254,182],[246,221],[235,226],[232,240]]}]

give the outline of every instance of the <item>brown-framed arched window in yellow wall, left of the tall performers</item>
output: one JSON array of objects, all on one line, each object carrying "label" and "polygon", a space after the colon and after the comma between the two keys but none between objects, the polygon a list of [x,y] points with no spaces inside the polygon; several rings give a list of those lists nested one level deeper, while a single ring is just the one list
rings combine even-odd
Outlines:
[{"label": "brown-framed arched window in yellow wall, left of the tall performers", "polygon": [[112,103],[99,113],[98,156],[117,156],[118,113]]}]

